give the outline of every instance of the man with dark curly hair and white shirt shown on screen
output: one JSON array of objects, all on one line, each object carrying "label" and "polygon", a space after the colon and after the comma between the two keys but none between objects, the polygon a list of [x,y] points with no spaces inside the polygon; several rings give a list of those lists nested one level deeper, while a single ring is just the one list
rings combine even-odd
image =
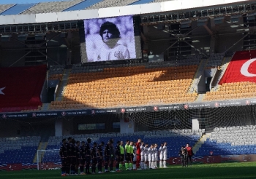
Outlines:
[{"label": "man with dark curly hair and white shirt shown on screen", "polygon": [[127,47],[118,44],[120,31],[115,24],[105,22],[100,26],[99,35],[104,42],[94,54],[94,61],[124,60],[129,59]]}]

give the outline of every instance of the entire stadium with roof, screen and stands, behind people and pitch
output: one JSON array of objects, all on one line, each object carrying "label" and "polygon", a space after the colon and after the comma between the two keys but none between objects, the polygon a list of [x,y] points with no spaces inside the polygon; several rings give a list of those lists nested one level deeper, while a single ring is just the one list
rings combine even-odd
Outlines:
[{"label": "entire stadium with roof, screen and stands, behind people and pitch", "polygon": [[168,166],[186,143],[195,164],[255,162],[255,15],[249,0],[1,3],[0,170],[60,168],[63,138],[167,142]]}]

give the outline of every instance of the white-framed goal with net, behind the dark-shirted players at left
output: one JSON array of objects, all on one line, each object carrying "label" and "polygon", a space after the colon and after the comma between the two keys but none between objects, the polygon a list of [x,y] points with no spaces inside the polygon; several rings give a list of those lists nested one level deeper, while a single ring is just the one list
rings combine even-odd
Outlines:
[{"label": "white-framed goal with net, behind the dark-shirted players at left", "polygon": [[55,170],[60,167],[59,149],[37,150],[37,170]]}]

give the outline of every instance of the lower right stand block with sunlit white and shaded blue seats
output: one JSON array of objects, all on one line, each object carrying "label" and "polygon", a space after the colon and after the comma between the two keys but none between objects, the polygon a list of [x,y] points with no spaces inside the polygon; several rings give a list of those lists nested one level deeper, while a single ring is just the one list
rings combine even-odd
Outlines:
[{"label": "lower right stand block with sunlit white and shaded blue seats", "polygon": [[216,127],[196,156],[256,154],[256,126]]}]

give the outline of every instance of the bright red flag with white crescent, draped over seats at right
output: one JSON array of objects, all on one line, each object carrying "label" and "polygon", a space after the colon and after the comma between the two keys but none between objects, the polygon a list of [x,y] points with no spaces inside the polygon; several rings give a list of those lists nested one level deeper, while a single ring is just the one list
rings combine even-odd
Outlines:
[{"label": "bright red flag with white crescent, draped over seats at right", "polygon": [[256,50],[236,52],[219,84],[241,81],[256,82]]}]

